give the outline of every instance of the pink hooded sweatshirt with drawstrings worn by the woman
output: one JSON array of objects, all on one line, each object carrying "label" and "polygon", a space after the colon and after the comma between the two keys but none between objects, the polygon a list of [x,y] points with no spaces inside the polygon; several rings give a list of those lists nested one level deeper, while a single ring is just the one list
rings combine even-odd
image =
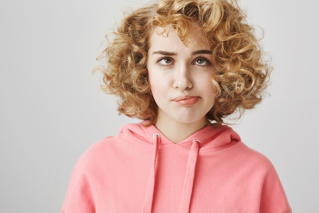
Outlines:
[{"label": "pink hooded sweatshirt with drawstrings worn by the woman", "polygon": [[61,213],[291,212],[272,163],[230,127],[206,126],[173,144],[143,123],[79,158]]}]

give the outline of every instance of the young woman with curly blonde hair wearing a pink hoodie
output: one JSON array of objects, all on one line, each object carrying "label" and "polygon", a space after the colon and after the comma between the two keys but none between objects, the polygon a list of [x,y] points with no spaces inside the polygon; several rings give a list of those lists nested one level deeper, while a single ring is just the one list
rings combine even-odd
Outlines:
[{"label": "young woman with curly blonde hair wearing a pink hoodie", "polygon": [[61,212],[291,212],[272,163],[223,124],[262,99],[269,66],[235,4],[163,0],[127,15],[103,89],[143,120],[79,158]]}]

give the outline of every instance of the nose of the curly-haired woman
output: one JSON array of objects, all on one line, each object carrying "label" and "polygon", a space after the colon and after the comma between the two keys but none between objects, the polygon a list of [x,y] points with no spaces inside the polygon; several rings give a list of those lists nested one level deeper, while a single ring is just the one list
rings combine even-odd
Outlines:
[{"label": "nose of the curly-haired woman", "polygon": [[180,65],[176,68],[173,86],[181,90],[192,88],[193,84],[191,81],[189,68],[185,65]]}]

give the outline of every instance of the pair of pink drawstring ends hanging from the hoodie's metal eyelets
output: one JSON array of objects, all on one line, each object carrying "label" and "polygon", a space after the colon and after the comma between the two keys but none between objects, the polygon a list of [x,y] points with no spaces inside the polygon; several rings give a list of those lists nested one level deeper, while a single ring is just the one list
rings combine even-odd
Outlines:
[{"label": "pair of pink drawstring ends hanging from the hoodie's metal eyelets", "polygon": [[[155,133],[153,134],[153,139],[155,139],[155,137],[156,137],[156,140],[154,143],[153,165],[152,165],[148,183],[147,183],[146,194],[145,194],[145,199],[143,204],[143,211],[142,211],[143,213],[152,212],[154,185],[155,185],[156,158],[157,158],[157,152],[158,152],[161,136],[158,133]],[[190,210],[198,150],[199,150],[199,140],[194,139],[192,141],[192,146],[191,146],[189,157],[188,157],[187,170],[186,170],[186,174],[184,178],[180,213],[188,213]]]}]

